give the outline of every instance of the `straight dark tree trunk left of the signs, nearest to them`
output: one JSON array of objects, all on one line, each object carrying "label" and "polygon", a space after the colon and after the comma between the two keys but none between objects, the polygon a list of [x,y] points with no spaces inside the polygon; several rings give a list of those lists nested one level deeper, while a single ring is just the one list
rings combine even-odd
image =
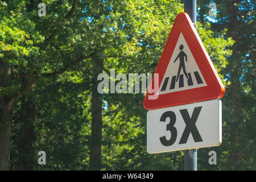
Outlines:
[{"label": "straight dark tree trunk left of the signs, nearest to them", "polygon": [[98,171],[101,169],[101,139],[102,139],[102,94],[98,93],[98,74],[103,71],[103,60],[94,58],[92,81],[92,136],[90,144],[89,169]]}]

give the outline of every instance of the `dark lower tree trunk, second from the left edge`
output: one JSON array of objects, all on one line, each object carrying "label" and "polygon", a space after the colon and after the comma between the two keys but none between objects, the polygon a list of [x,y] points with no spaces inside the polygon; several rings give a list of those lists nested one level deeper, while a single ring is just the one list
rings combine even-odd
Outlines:
[{"label": "dark lower tree trunk, second from the left edge", "polygon": [[20,109],[20,137],[18,170],[32,171],[33,169],[33,142],[35,121],[35,100],[32,94],[21,98]]}]

